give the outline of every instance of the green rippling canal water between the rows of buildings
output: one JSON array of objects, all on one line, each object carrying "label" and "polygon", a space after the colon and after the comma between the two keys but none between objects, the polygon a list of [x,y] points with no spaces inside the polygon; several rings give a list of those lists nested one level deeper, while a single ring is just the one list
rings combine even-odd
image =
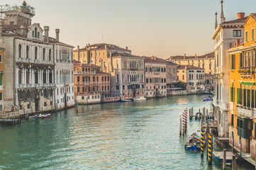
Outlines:
[{"label": "green rippling canal water between the rows of buildings", "polygon": [[202,97],[79,106],[78,113],[70,108],[1,127],[0,169],[221,169],[218,162],[208,167],[206,157],[184,149],[199,121],[189,122],[188,135],[179,137],[185,108],[210,108]]}]

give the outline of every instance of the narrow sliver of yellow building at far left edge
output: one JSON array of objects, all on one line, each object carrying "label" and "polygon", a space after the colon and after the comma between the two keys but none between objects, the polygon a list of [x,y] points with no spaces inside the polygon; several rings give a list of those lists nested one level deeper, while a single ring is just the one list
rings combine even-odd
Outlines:
[{"label": "narrow sliver of yellow building at far left edge", "polygon": [[4,48],[0,47],[0,112],[4,111]]}]

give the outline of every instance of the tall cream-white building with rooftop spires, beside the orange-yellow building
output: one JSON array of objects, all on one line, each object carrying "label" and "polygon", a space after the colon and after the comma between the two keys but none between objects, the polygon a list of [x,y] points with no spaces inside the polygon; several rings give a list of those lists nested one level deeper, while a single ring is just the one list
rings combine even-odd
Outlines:
[{"label": "tall cream-white building with rooftop spires, beside the orange-yellow building", "polygon": [[214,40],[214,56],[216,76],[216,92],[213,98],[213,112],[216,115],[218,135],[228,137],[229,135],[229,97],[226,91],[229,91],[229,55],[228,49],[235,45],[239,40],[243,42],[244,23],[247,17],[245,13],[238,13],[238,19],[225,21],[223,13],[223,1],[221,1],[220,24],[216,24],[215,31],[211,37]]}]

